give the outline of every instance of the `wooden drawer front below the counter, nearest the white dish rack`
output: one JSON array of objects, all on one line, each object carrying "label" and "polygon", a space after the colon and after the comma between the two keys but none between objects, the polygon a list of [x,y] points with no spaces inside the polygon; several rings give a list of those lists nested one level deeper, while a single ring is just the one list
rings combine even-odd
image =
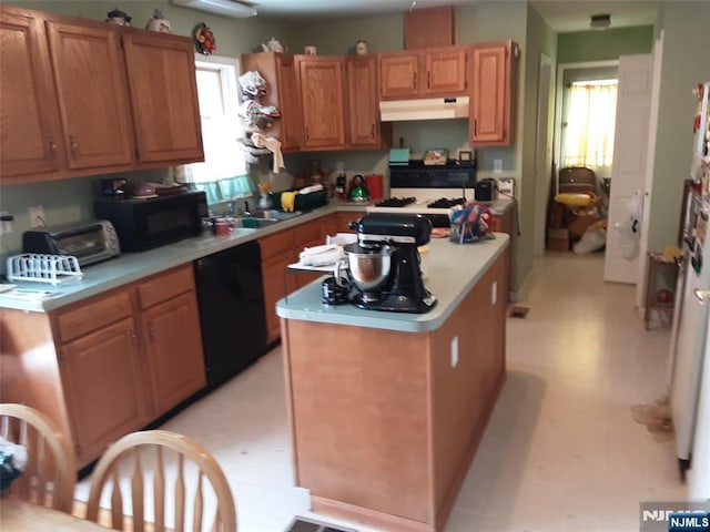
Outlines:
[{"label": "wooden drawer front below the counter, nearest the white dish rack", "polygon": [[60,341],[65,344],[132,314],[131,296],[128,291],[102,295],[91,303],[83,303],[72,310],[55,315]]}]

